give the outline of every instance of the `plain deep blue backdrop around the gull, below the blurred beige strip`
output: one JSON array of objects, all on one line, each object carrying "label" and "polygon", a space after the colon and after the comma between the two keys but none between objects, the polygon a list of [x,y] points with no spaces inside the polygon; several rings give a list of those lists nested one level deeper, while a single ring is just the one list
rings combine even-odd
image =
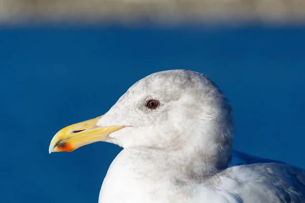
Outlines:
[{"label": "plain deep blue backdrop around the gull, below the blurred beige strip", "polygon": [[94,143],[48,154],[53,135],[170,69],[221,87],[236,149],[305,168],[305,27],[3,28],[0,202],[97,202],[121,149]]}]

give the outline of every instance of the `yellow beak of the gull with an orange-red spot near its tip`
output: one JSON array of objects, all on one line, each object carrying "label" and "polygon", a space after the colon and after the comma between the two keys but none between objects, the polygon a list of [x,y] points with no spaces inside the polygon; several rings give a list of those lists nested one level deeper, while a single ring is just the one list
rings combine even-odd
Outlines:
[{"label": "yellow beak of the gull with an orange-red spot near its tip", "polygon": [[53,137],[49,153],[71,152],[77,148],[98,141],[109,140],[109,134],[126,126],[97,127],[100,117],[69,125],[59,130]]}]

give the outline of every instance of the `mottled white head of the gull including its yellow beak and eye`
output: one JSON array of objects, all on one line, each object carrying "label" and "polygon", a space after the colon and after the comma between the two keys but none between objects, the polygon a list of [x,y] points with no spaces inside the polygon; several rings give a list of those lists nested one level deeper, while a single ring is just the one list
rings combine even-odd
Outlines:
[{"label": "mottled white head of the gull including its yellow beak and eye", "polygon": [[49,153],[104,141],[123,148],[229,155],[233,131],[228,100],[211,80],[171,70],[136,82],[104,115],[59,130]]}]

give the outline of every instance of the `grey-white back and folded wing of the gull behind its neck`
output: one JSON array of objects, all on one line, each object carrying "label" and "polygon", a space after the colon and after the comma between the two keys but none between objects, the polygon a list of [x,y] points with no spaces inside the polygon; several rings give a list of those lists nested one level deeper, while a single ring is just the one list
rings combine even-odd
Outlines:
[{"label": "grey-white back and folded wing of the gull behind its neck", "polygon": [[305,203],[304,170],[235,150],[232,154],[220,189],[236,193],[244,203]]}]

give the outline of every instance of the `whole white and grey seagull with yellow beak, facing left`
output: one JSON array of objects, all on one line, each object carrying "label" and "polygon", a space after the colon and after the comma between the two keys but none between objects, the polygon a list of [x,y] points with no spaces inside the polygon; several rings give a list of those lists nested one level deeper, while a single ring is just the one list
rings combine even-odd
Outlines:
[{"label": "whole white and grey seagull with yellow beak, facing left", "polygon": [[123,147],[99,203],[305,202],[305,171],[232,149],[228,99],[205,75],[170,70],[131,86],[104,115],[59,130],[49,153]]}]

